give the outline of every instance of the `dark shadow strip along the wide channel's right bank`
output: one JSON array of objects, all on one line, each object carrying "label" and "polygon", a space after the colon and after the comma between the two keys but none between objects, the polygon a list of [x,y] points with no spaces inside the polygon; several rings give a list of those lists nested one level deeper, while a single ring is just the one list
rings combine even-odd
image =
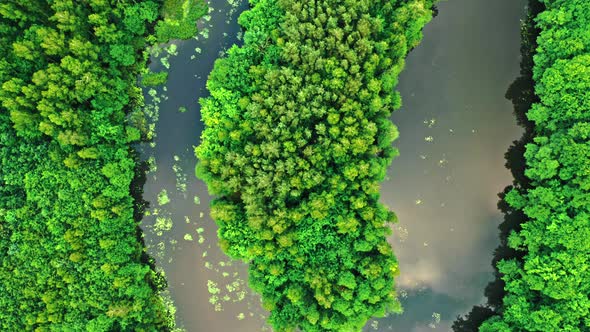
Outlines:
[{"label": "dark shadow strip along the wide channel's right bank", "polygon": [[504,214],[504,221],[498,226],[500,230],[500,246],[495,249],[492,260],[494,280],[485,288],[484,294],[487,298],[487,303],[485,305],[474,306],[467,315],[457,317],[452,325],[454,332],[477,331],[484,321],[494,315],[501,314],[502,299],[506,291],[504,290],[505,283],[501,279],[502,274],[498,271],[496,265],[501,260],[521,260],[524,256],[523,252],[508,247],[508,236],[512,231],[519,231],[522,223],[526,222],[527,217],[522,211],[510,207],[504,201],[504,197],[512,188],[530,188],[530,180],[525,176],[526,160],[524,158],[524,152],[526,151],[526,145],[532,142],[534,137],[534,124],[528,120],[526,113],[532,104],[538,102],[538,97],[535,95],[534,90],[535,83],[533,81],[533,56],[537,48],[536,40],[540,31],[534,27],[534,18],[543,10],[544,5],[538,0],[529,0],[528,15],[521,28],[520,76],[512,82],[508,91],[506,91],[506,99],[510,100],[514,105],[516,122],[525,131],[519,140],[512,142],[512,145],[505,154],[506,168],[510,170],[514,180],[512,185],[506,187],[503,192],[498,194],[500,198],[498,209]]}]

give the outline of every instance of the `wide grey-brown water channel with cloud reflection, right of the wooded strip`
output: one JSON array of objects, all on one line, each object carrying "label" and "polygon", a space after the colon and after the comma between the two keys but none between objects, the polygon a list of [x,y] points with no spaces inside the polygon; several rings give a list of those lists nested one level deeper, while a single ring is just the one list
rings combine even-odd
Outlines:
[{"label": "wide grey-brown water channel with cloud reflection, right of the wooded strip", "polygon": [[512,183],[504,153],[522,134],[504,95],[519,76],[525,3],[442,1],[407,58],[404,106],[392,116],[400,156],[381,190],[400,220],[392,244],[405,312],[379,330],[449,331],[485,300],[503,219],[497,194]]}]

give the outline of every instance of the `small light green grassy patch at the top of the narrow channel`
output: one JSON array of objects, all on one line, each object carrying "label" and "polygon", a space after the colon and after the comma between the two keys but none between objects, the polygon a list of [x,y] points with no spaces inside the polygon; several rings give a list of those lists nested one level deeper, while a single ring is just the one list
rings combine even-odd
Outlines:
[{"label": "small light green grassy patch at the top of the narrow channel", "polygon": [[165,0],[163,20],[156,25],[156,37],[161,43],[170,39],[189,39],[196,35],[196,21],[207,14],[205,0]]}]

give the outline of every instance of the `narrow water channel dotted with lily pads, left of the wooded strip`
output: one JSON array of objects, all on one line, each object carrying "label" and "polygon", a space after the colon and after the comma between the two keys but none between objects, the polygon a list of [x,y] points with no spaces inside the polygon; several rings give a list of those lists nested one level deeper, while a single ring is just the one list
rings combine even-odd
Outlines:
[{"label": "narrow water channel dotted with lily pads, left of the wooded strip", "polygon": [[[205,84],[215,60],[241,43],[237,17],[248,3],[212,1],[210,7],[210,17],[199,22],[197,39],[174,43],[178,54],[168,60],[166,91],[156,89],[161,101],[155,146],[144,144],[142,149],[142,158],[153,158],[156,169],[144,186],[151,215],[142,227],[150,254],[166,273],[179,327],[190,332],[260,331],[264,317],[258,297],[247,287],[246,266],[231,263],[217,246],[207,188],[194,173],[193,148],[203,129],[198,100],[208,95]],[[150,69],[166,70],[157,57]],[[146,102],[152,100],[147,97]]]}]

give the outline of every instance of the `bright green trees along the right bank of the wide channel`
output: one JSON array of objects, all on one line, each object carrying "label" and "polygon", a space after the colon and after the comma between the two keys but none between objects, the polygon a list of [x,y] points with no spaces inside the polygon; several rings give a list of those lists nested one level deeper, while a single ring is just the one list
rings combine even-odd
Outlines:
[{"label": "bright green trees along the right bank of the wide channel", "polygon": [[500,261],[502,315],[480,331],[590,330],[590,3],[544,0],[535,55],[540,102],[528,112],[531,188],[506,196],[529,218],[508,243],[524,259]]}]

